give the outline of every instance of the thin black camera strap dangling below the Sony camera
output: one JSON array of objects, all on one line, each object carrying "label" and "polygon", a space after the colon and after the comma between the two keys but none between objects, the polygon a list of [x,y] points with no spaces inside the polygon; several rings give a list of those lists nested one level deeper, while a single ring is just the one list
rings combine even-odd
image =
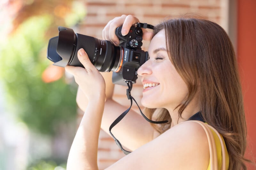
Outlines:
[{"label": "thin black camera strap dangling below the Sony camera", "polygon": [[148,119],[148,117],[146,117],[141,109],[140,109],[140,106],[138,105],[138,103],[135,101],[135,99],[131,96],[131,90],[132,90],[132,81],[125,81],[127,83],[127,86],[128,86],[128,89],[126,90],[126,95],[127,95],[127,98],[128,100],[131,100],[131,106],[125,110],[119,117],[116,118],[116,120],[110,125],[109,127],[109,133],[110,135],[114,138],[116,144],[118,145],[118,147],[124,152],[125,155],[128,155],[129,153],[131,153],[130,151],[127,151],[123,148],[123,146],[121,145],[121,143],[119,142],[119,140],[116,139],[116,137],[111,133],[111,129],[116,125],[118,124],[123,118],[124,116],[130,111],[131,107],[132,107],[132,100],[134,100],[134,102],[137,104],[139,110],[140,110],[140,113],[141,115],[150,123],[153,123],[153,124],[163,124],[163,123],[167,123],[168,120],[164,120],[164,121],[153,121],[153,120],[150,120]]}]

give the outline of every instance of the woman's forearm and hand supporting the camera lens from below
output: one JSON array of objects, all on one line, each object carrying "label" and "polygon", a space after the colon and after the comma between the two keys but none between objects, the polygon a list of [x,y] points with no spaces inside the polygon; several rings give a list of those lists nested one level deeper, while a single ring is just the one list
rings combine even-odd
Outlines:
[{"label": "woman's forearm and hand supporting the camera lens from below", "polygon": [[84,49],[78,51],[82,67],[66,66],[86,94],[87,108],[68,155],[67,169],[98,169],[97,151],[100,124],[105,102],[105,81],[89,60]]}]

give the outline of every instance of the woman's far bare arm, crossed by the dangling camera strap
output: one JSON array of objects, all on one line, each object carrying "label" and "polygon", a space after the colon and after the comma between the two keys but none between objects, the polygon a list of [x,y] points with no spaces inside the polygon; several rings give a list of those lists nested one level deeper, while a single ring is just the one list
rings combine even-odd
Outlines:
[{"label": "woman's far bare arm, crossed by the dangling camera strap", "polygon": [[[111,77],[108,78],[111,81]],[[112,82],[108,83],[112,84]],[[108,87],[108,83],[106,81],[106,87]],[[109,91],[106,88],[106,96],[110,96]],[[88,100],[80,88],[77,91],[76,102],[82,110],[86,110]],[[130,103],[128,99],[127,103]],[[107,97],[101,122],[101,129],[109,134],[109,126],[126,109],[128,108],[114,101],[112,99],[112,95],[111,98]],[[123,146],[127,147],[132,151],[148,143],[149,141],[153,140],[155,136],[159,135],[158,132],[156,132],[140,114],[136,113],[133,110],[130,110],[129,113],[124,117],[124,119],[116,124],[111,132],[115,135],[115,137],[121,142]]]}]

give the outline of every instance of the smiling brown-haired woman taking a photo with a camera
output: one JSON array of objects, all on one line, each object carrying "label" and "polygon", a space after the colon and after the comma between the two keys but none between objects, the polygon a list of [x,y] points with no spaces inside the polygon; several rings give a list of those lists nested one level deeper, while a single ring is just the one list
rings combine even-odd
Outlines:
[{"label": "smiling brown-haired woman taking a photo with a camera", "polygon": [[[122,34],[126,35],[137,22],[131,15],[114,18],[104,28],[103,38],[118,45],[116,27],[123,25]],[[149,59],[138,69],[144,85],[141,103],[149,118],[154,114],[156,120],[169,119],[170,123],[152,128],[131,111],[113,133],[133,152],[108,169],[209,169],[205,132],[199,124],[187,121],[199,111],[224,138],[226,169],[246,169],[242,92],[235,53],[225,31],[210,21],[177,18],[160,23],[153,34],[143,30],[143,39],[151,42]],[[85,113],[67,169],[98,169],[100,127],[108,131],[126,108],[112,100],[110,75],[105,75],[105,83],[83,49],[78,57],[85,69],[67,66],[66,70],[80,87],[77,102]],[[218,157],[220,167],[221,151]]]}]

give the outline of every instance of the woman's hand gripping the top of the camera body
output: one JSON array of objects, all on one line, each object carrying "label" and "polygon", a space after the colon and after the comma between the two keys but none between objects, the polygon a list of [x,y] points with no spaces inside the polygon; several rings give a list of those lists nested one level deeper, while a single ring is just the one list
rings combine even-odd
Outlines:
[{"label": "woman's hand gripping the top of the camera body", "polygon": [[[123,25],[122,27],[122,35],[127,35],[131,26],[140,22],[138,18],[133,15],[122,15],[121,17],[116,17],[108,22],[105,28],[102,31],[102,38],[105,40],[111,41],[114,45],[119,45],[119,39],[115,34],[115,30],[117,27]],[[152,36],[152,32],[148,32],[146,29],[143,29],[142,39],[149,41]]]}]

